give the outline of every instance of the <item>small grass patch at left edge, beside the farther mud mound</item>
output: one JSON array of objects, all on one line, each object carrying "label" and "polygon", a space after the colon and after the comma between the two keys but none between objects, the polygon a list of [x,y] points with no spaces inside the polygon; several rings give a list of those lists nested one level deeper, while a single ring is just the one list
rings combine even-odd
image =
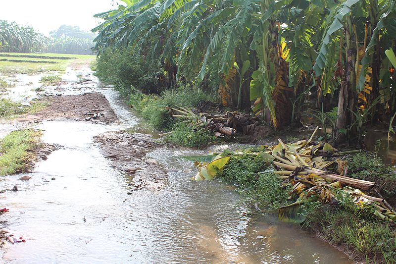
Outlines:
[{"label": "small grass patch at left edge, beside the farther mud mound", "polygon": [[24,106],[21,103],[3,98],[0,99],[0,117],[10,119],[20,114],[38,112],[45,106],[46,105],[41,102],[32,102],[30,106]]}]

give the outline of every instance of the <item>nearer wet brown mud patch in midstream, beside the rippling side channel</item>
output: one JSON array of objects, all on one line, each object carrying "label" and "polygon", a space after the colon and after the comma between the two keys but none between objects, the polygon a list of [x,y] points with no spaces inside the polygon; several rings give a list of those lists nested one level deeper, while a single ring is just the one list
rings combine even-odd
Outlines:
[{"label": "nearer wet brown mud patch in midstream, beside the rippling side channel", "polygon": [[157,161],[146,154],[162,145],[146,134],[126,132],[104,133],[94,137],[100,152],[111,160],[112,166],[131,176],[134,181],[132,191],[141,189],[160,190],[164,186],[166,171]]}]

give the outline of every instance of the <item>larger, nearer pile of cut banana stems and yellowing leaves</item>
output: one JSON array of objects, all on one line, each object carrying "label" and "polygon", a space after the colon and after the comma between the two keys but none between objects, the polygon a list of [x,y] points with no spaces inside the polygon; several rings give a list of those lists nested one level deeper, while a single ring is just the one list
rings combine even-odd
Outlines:
[{"label": "larger, nearer pile of cut banana stems and yellowing leaves", "polygon": [[[278,145],[267,147],[266,151],[249,153],[265,158],[266,161],[273,161],[276,168],[274,174],[284,179],[284,185],[293,186],[289,199],[297,195],[297,201],[281,210],[312,201],[313,198],[323,203],[333,204],[350,199],[356,206],[369,208],[383,220],[395,221],[394,208],[381,196],[374,182],[347,177],[347,166],[344,160],[326,160],[326,157],[337,157],[357,151],[338,152],[328,143],[313,144],[312,139],[317,130],[318,128],[308,140],[285,144],[279,139]],[[199,163],[199,171],[195,179],[213,178],[215,170],[221,171],[227,164],[230,159],[229,155],[241,154],[246,153],[219,154],[209,163]],[[327,171],[327,168],[335,163],[338,164],[338,174]],[[214,169],[215,166],[217,166],[216,169]]]}]

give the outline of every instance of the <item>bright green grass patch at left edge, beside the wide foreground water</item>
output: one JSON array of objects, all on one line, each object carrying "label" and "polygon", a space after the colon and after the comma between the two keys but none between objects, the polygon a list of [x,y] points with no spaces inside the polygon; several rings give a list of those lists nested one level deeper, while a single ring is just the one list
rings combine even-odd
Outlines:
[{"label": "bright green grass patch at left edge, beside the wide foreground water", "polygon": [[40,144],[42,132],[33,129],[13,131],[0,141],[0,175],[14,174],[27,170]]}]

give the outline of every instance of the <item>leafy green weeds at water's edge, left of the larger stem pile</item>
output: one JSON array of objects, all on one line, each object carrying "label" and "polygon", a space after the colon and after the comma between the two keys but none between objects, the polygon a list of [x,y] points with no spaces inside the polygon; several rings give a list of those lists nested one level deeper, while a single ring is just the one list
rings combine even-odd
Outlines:
[{"label": "leafy green weeds at water's edge, left of the larger stem pile", "polygon": [[239,185],[253,201],[272,211],[288,204],[290,187],[272,172],[263,172],[267,167],[264,160],[255,155],[231,157],[219,177]]}]

